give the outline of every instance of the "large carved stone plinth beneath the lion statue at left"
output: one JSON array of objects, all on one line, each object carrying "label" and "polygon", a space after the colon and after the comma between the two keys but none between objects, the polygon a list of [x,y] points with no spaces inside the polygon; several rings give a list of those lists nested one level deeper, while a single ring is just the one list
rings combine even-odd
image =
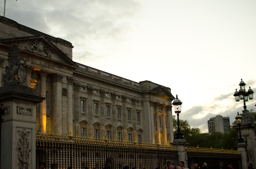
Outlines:
[{"label": "large carved stone plinth beneath the lion statue at left", "polygon": [[0,168],[36,168],[36,104],[44,99],[32,88],[15,82],[0,88]]}]

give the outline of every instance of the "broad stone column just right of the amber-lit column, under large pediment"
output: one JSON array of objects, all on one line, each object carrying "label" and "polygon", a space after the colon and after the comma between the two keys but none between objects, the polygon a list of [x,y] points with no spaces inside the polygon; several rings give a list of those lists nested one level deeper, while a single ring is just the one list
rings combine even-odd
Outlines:
[{"label": "broad stone column just right of the amber-lit column, under large pediment", "polygon": [[63,75],[53,74],[53,134],[62,134],[62,79]]}]

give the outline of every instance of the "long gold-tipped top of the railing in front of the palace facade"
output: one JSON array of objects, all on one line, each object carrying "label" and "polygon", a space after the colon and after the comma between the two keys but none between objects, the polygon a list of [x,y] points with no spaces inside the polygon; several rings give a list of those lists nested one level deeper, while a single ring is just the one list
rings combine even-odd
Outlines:
[{"label": "long gold-tipped top of the railing in front of the palace facade", "polygon": [[102,145],[102,146],[119,146],[119,147],[134,147],[134,148],[145,148],[145,149],[163,149],[163,150],[177,150],[176,146],[173,145],[162,145],[152,143],[137,143],[136,139],[133,142],[108,140],[107,136],[105,139],[87,138],[77,136],[67,136],[58,134],[43,134],[36,133],[36,141],[41,142],[57,142],[57,143],[72,143],[81,145]]}]

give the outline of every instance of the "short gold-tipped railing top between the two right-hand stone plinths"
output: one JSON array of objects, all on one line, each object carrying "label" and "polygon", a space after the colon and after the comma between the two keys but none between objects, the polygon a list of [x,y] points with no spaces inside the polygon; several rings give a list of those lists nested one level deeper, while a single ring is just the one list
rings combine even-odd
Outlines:
[{"label": "short gold-tipped railing top between the two right-hand stone plinths", "polygon": [[241,154],[237,150],[226,150],[226,149],[217,149],[217,148],[202,148],[202,147],[187,147],[188,152],[207,152],[207,153],[229,153],[229,154]]}]

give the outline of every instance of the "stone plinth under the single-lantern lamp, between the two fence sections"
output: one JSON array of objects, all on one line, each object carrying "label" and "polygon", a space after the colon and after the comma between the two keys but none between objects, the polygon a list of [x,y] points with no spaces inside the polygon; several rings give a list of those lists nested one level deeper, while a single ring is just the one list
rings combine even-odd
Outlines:
[{"label": "stone plinth under the single-lantern lamp, between the two fence sections", "polygon": [[188,157],[187,157],[187,145],[186,139],[175,139],[171,145],[175,145],[177,147],[179,161],[184,161],[184,166],[188,168]]}]

